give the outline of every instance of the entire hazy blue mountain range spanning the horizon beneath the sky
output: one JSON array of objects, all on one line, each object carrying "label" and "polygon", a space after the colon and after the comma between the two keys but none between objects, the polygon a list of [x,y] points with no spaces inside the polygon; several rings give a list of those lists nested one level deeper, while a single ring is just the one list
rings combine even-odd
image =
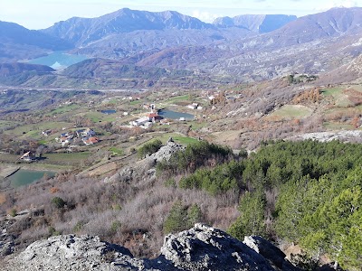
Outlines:
[{"label": "entire hazy blue mountain range spanning the horizon beneath the sky", "polygon": [[[171,11],[124,8],[98,18],[74,17],[41,31],[0,22],[0,61],[66,50],[116,61],[111,65],[98,61],[107,67],[193,70],[250,81],[291,71],[337,69],[360,54],[361,36],[362,8],[358,7],[335,8],[300,18],[239,15],[218,18],[214,23]],[[84,70],[80,65],[89,67],[90,62],[77,64],[77,69]],[[137,69],[129,72],[131,77]]]}]

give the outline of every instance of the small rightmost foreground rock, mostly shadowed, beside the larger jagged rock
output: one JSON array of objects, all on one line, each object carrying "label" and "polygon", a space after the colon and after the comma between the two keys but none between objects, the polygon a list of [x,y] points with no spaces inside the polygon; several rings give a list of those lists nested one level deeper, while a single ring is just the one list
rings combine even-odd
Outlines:
[{"label": "small rightmost foreground rock, mostly shadowed, beside the larger jagged rock", "polygon": [[285,259],[286,255],[281,249],[275,247],[271,242],[265,240],[260,236],[246,236],[243,238],[243,243],[249,248],[254,249],[257,253],[267,259],[271,266],[283,271],[298,271],[299,268],[291,265],[291,263]]}]

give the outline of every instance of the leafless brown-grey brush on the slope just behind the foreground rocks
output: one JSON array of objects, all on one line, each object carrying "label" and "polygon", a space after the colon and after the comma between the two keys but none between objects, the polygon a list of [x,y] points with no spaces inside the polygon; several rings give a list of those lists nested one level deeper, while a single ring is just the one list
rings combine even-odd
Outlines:
[{"label": "leafless brown-grey brush on the slope just behind the foreground rocks", "polygon": [[[52,234],[90,234],[148,257],[157,256],[164,236],[163,222],[176,201],[186,206],[197,204],[203,221],[220,229],[229,227],[238,216],[233,192],[213,197],[206,192],[166,187],[161,179],[104,183],[100,178],[60,173],[6,197],[0,207],[3,214],[14,205],[17,210],[32,209],[38,214],[17,220],[11,228],[24,245]],[[64,208],[52,204],[55,197],[66,202]]]}]

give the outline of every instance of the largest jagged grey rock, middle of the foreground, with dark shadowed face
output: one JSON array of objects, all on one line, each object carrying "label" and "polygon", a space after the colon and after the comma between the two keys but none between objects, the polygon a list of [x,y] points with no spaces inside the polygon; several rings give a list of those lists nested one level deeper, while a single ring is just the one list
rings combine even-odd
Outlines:
[{"label": "largest jagged grey rock, middle of the foreground, with dark shadowed face", "polygon": [[243,242],[203,224],[168,235],[161,253],[182,270],[274,270]]}]

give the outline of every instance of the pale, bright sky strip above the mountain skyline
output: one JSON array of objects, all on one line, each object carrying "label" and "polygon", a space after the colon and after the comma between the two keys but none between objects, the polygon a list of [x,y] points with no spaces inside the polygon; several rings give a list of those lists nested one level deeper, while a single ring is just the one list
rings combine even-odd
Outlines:
[{"label": "pale, bright sky strip above the mountain skyline", "polygon": [[332,7],[362,6],[362,0],[0,0],[0,21],[43,29],[71,17],[99,17],[121,8],[175,10],[212,23],[240,14],[317,14]]}]

